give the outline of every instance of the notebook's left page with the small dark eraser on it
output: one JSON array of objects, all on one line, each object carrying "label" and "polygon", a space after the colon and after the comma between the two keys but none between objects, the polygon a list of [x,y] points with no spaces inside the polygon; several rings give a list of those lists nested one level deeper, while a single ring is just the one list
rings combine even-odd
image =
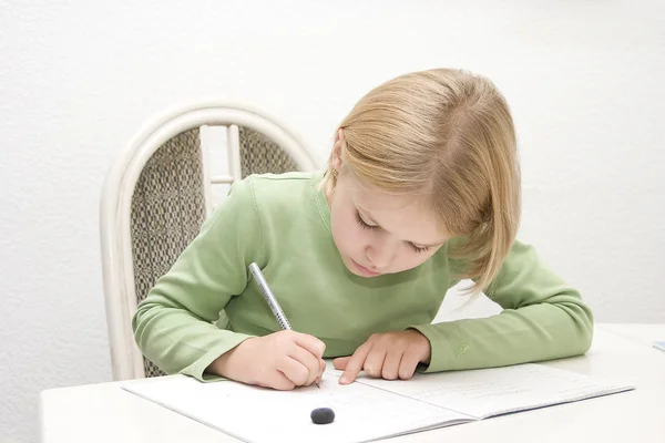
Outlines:
[{"label": "notebook's left page with the small dark eraser on it", "polygon": [[[472,420],[361,383],[340,385],[328,373],[320,389],[294,391],[185,377],[133,381],[123,388],[247,442],[362,442]],[[331,408],[335,421],[314,424],[309,414],[316,408]]]}]

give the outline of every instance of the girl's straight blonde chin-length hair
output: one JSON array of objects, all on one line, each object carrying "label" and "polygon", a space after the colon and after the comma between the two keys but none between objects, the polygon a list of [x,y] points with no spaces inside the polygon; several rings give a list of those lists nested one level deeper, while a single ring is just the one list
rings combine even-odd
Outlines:
[{"label": "girl's straight blonde chin-length hair", "polygon": [[[449,249],[463,264],[456,277],[473,279],[474,293],[487,289],[521,212],[513,121],[494,84],[451,69],[405,74],[367,93],[339,127],[350,173],[388,193],[427,195],[426,207],[459,237]],[[328,166],[321,186],[332,193],[335,184]]]}]

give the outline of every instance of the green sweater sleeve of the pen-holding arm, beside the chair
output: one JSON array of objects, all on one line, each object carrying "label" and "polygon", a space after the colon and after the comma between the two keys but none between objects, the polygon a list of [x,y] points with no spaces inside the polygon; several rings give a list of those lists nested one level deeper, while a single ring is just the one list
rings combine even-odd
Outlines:
[{"label": "green sweater sleeve of the pen-holding arm, beside the chair", "polygon": [[262,262],[260,224],[250,179],[236,182],[198,236],[150,290],[132,319],[136,344],[166,373],[218,379],[205,369],[249,336],[213,322]]}]

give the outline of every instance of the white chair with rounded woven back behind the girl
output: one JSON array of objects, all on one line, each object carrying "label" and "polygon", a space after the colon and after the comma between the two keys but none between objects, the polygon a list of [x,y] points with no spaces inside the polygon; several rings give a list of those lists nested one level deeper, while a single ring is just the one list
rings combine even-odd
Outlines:
[{"label": "white chair with rounded woven back behind the girl", "polygon": [[[228,173],[211,172],[200,128],[226,127]],[[113,379],[161,375],[134,342],[131,319],[156,279],[214,209],[213,186],[253,173],[320,165],[283,124],[245,105],[167,112],[134,136],[106,175],[100,207],[102,270]]]}]

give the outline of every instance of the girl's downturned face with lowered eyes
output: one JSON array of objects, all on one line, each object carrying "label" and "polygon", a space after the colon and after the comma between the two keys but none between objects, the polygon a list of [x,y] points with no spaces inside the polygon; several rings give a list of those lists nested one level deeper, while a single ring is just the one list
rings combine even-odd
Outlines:
[{"label": "girl's downturned face with lowered eyes", "polygon": [[355,275],[376,277],[415,268],[450,237],[416,198],[361,186],[335,156],[332,166],[339,172],[335,192],[327,196],[332,239]]}]

